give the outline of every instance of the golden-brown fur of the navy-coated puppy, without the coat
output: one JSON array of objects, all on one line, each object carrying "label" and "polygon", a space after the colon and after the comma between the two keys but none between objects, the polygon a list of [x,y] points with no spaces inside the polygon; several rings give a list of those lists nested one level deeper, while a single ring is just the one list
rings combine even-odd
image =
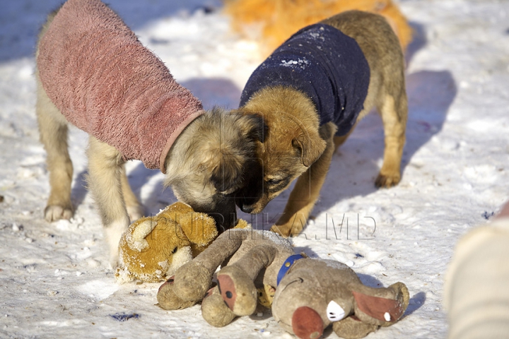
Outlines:
[{"label": "golden-brown fur of the navy-coated puppy, without the coat", "polygon": [[[385,151],[375,184],[394,186],[401,178],[408,111],[404,59],[397,37],[387,21],[373,13],[349,11],[322,23],[355,39],[368,61],[368,95],[357,121],[373,107],[378,109],[385,131]],[[298,178],[284,213],[272,230],[286,237],[299,234],[315,206],[334,150],[349,134],[334,137],[337,127],[333,123],[319,126],[312,101],[290,87],[268,85],[237,112],[259,115],[268,126],[264,142],[259,143],[257,150],[263,163],[262,177],[257,180],[262,183],[251,183],[248,187],[256,187],[258,191],[246,190],[246,198],[241,198],[238,205],[245,212],[260,213],[271,199]]]}]

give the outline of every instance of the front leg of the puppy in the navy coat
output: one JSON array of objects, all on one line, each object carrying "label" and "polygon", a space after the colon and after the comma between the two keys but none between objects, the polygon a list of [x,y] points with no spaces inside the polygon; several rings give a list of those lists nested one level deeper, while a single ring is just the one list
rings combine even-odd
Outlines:
[{"label": "front leg of the puppy in the navy coat", "polygon": [[306,225],[308,217],[320,196],[327,172],[334,155],[334,133],[336,125],[332,122],[320,127],[320,136],[327,141],[327,147],[318,160],[312,163],[306,172],[298,177],[291,191],[288,203],[281,218],[271,227],[271,231],[283,237],[298,235]]}]

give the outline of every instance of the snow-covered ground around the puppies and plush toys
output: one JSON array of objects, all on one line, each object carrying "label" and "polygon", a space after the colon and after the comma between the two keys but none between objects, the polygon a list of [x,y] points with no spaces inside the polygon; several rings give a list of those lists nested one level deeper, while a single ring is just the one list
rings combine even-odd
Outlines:
[{"label": "snow-covered ground around the puppies and plush toys", "polygon": [[[229,31],[218,0],[108,2],[206,107],[238,105],[262,60],[257,44]],[[444,338],[443,283],[454,245],[509,197],[509,1],[397,2],[416,29],[402,182],[374,188],[383,132],[373,114],[334,155],[315,219],[294,243],[310,256],[347,263],[368,285],[406,283],[404,319],[370,338]],[[77,129],[70,136],[76,215],[42,220],[49,186],[35,121],[33,46],[59,3],[0,6],[0,337],[291,338],[268,312],[212,328],[199,306],[154,306],[158,284],[117,285],[83,187],[87,138]],[[140,162],[128,168],[149,213],[175,201],[158,171]],[[262,215],[240,216],[267,227],[287,197]]]}]

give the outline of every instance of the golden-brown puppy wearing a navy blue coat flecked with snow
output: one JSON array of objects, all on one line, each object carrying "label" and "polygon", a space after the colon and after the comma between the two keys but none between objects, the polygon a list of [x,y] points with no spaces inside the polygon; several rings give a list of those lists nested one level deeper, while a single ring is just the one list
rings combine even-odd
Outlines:
[{"label": "golden-brown puppy wearing a navy blue coat flecked with snow", "polygon": [[334,151],[358,121],[376,108],[385,133],[383,165],[375,180],[401,179],[408,102],[404,56],[385,18],[347,11],[296,32],[250,76],[238,112],[264,119],[259,167],[236,194],[246,213],[260,213],[298,178],[281,218],[271,228],[297,235],[315,206]]}]

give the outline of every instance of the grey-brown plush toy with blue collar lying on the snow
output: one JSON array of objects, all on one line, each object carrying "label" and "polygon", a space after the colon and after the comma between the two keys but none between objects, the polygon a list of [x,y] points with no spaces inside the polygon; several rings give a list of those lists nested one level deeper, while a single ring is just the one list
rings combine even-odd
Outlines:
[{"label": "grey-brown plush toy with blue collar lying on the snow", "polygon": [[[210,288],[219,266],[217,286]],[[260,287],[275,289],[272,315],[298,338],[319,338],[330,325],[341,338],[363,338],[398,321],[409,304],[403,283],[365,286],[343,263],[295,254],[273,232],[242,229],[221,234],[180,267],[160,287],[158,302],[182,309],[201,301],[204,319],[220,327],[253,314]]]}]

